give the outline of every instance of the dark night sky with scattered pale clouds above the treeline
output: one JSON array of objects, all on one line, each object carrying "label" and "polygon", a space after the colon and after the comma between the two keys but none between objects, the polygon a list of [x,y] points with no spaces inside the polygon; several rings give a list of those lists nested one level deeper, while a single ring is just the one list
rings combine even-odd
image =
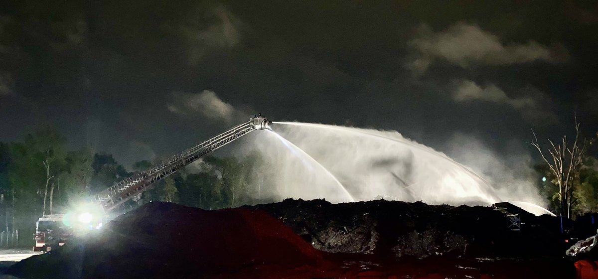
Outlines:
[{"label": "dark night sky with scattered pale clouds above the treeline", "polygon": [[127,167],[262,112],[459,157],[598,130],[596,1],[0,1],[0,141]]}]

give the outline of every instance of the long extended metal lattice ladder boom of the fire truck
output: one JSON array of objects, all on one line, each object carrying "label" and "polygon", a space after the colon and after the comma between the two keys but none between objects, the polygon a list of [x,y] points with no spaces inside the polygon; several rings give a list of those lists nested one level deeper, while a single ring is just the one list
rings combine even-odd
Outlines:
[{"label": "long extended metal lattice ladder boom of the fire truck", "polygon": [[212,137],[212,139],[206,140],[199,145],[193,146],[193,148],[174,155],[168,161],[163,161],[148,170],[139,171],[138,173],[133,174],[127,179],[94,195],[91,197],[91,201],[99,203],[106,213],[108,213],[120,204],[135,197],[135,195],[141,194],[147,190],[149,185],[175,173],[175,171],[186,167],[188,164],[193,163],[204,155],[221,148],[227,143],[230,143],[251,131],[268,128],[268,123],[268,119],[262,117],[261,114],[260,116],[256,115],[249,119],[248,122],[230,128],[228,131]]}]

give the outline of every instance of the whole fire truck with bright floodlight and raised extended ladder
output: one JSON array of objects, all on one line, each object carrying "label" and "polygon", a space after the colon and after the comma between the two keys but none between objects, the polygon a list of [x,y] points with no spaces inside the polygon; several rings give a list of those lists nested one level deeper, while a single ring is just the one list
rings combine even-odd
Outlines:
[{"label": "whole fire truck with bright floodlight and raised extended ladder", "polygon": [[73,237],[80,237],[114,219],[122,211],[120,206],[149,189],[151,185],[175,173],[206,154],[227,145],[233,140],[255,130],[269,128],[270,121],[256,114],[249,121],[232,127],[199,145],[185,149],[168,160],[161,161],[147,170],[138,171],[121,182],[115,183],[66,214],[48,214],[39,217],[35,229],[34,251],[50,252]]}]

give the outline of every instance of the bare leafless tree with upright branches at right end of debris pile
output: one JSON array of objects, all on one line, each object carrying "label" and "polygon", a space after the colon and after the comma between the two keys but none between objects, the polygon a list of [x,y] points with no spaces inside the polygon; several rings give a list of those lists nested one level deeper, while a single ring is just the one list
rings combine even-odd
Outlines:
[{"label": "bare leafless tree with upright branches at right end of debris pile", "polygon": [[[579,130],[579,122],[575,118],[575,140],[570,145],[567,136],[563,136],[560,143],[557,145],[550,139],[545,150],[540,146],[536,133],[532,130],[533,141],[531,144],[538,149],[542,159],[550,167],[551,173],[554,175],[556,185],[559,186],[558,197],[561,206],[561,215],[570,217],[571,204],[573,203],[573,189],[575,188],[575,179],[579,176],[579,169],[582,166],[582,160],[587,148],[587,140],[581,139],[581,131]],[[550,159],[545,156],[545,152],[550,154]]]}]

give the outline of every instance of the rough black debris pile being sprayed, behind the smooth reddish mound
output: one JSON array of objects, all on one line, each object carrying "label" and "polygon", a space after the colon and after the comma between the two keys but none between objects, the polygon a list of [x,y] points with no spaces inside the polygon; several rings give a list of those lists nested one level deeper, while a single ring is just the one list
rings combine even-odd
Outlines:
[{"label": "rough black debris pile being sprayed, behind the smooth reddish mound", "polygon": [[505,216],[491,207],[288,199],[251,208],[271,213],[316,249],[332,253],[422,258],[562,256],[564,251],[556,225],[511,231]]}]

